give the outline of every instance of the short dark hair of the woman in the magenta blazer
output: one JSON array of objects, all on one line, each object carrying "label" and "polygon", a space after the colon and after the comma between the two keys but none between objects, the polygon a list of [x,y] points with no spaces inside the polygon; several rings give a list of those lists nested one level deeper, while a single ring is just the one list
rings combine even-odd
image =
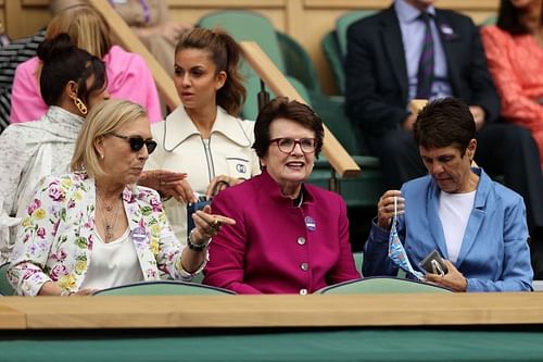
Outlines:
[{"label": "short dark hair of the woman in the magenta blazer", "polygon": [[310,107],[295,100],[289,100],[287,97],[273,99],[258,112],[254,124],[253,145],[253,149],[256,151],[258,158],[262,159],[268,152],[270,140],[269,125],[277,118],[290,120],[315,132],[315,157],[318,158],[323,149],[323,139],[325,138],[323,120]]}]

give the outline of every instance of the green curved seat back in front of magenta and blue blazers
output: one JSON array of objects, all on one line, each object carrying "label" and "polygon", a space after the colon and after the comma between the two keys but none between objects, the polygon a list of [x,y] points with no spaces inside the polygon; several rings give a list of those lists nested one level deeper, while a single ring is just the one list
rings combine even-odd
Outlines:
[{"label": "green curved seat back in front of magenta and blue blazers", "polygon": [[317,294],[333,294],[333,295],[358,295],[358,294],[420,294],[420,292],[453,292],[443,287],[438,287],[431,284],[401,279],[393,277],[368,277],[355,280],[349,280],[336,285],[328,286]]}]

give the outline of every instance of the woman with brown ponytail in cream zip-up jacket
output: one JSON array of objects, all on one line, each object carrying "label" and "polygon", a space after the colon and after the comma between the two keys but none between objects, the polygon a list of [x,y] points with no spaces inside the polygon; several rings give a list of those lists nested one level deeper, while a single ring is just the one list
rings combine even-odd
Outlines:
[{"label": "woman with brown ponytail in cream zip-up jacket", "polygon": [[245,100],[240,58],[238,43],[218,30],[195,28],[176,47],[174,82],[182,105],[153,125],[159,147],[148,170],[187,173],[166,192],[156,187],[179,240],[187,239],[187,203],[198,194],[211,198],[260,173],[254,123],[237,117]]}]

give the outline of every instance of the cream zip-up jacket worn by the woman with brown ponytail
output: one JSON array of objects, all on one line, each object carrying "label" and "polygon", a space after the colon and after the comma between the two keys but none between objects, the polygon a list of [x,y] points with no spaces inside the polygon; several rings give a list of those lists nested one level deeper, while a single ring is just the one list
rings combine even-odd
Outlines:
[{"label": "cream zip-up jacket worn by the woman with brown ponytail", "polygon": [[[261,173],[258,158],[251,148],[254,122],[243,121],[217,107],[209,139],[203,139],[185,108],[178,107],[164,122],[152,126],[159,147],[146,170],[186,172],[193,191],[204,195],[219,175],[248,179]],[[187,242],[187,205],[172,198],[163,201],[176,237]]]}]

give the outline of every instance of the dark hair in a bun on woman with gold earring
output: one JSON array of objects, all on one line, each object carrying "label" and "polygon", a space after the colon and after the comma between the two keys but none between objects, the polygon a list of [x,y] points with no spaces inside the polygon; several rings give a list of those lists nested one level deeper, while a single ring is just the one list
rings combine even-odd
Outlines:
[{"label": "dark hair in a bun on woman with gold earring", "polygon": [[[38,58],[43,64],[39,87],[47,105],[58,105],[66,84],[71,80],[77,84],[77,97],[87,105],[92,92],[106,87],[105,65],[102,60],[74,46],[65,33],[43,40],[38,47]],[[88,88],[87,79],[91,76],[94,76],[94,79]]]}]

